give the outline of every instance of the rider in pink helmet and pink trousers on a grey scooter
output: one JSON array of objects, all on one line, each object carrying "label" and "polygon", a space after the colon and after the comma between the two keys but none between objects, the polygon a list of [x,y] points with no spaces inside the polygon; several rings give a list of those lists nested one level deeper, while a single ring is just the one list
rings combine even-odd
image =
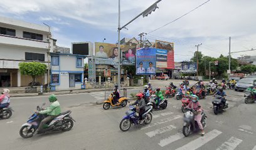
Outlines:
[{"label": "rider in pink helmet and pink trousers on a grey scooter", "polygon": [[[203,129],[203,125],[201,124],[201,113],[202,108],[200,106],[200,103],[198,102],[198,96],[193,95],[191,96],[192,101],[188,104],[188,108],[193,109],[193,113],[195,114],[194,120],[198,123],[199,128],[201,129],[201,134],[204,135],[205,131]],[[195,130],[195,121],[192,121],[194,130]]]}]

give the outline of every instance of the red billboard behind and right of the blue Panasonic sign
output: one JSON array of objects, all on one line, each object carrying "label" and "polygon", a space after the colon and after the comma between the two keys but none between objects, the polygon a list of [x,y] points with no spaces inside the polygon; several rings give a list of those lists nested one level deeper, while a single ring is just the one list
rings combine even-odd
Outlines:
[{"label": "red billboard behind and right of the blue Panasonic sign", "polygon": [[156,49],[166,49],[168,51],[167,65],[164,68],[174,69],[174,43],[156,40]]}]

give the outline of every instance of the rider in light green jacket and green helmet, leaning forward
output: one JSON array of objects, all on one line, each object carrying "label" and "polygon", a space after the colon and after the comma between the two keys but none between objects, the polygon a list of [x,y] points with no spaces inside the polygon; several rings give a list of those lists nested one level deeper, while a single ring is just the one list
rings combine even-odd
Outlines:
[{"label": "rider in light green jacket and green helmet, leaning forward", "polygon": [[38,112],[38,114],[47,114],[48,116],[41,121],[35,134],[40,133],[43,129],[43,126],[46,123],[53,120],[54,118],[56,118],[56,116],[58,116],[61,113],[60,103],[57,101],[58,99],[57,99],[56,95],[51,94],[48,99],[51,103],[50,107],[45,108],[45,110]]}]

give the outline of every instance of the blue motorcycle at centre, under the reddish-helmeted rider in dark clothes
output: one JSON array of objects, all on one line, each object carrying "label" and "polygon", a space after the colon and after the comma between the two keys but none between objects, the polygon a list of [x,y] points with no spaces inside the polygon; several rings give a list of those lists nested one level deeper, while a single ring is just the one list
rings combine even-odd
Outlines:
[{"label": "blue motorcycle at centre, under the reddish-helmeted rider in dark clothes", "polygon": [[[153,106],[147,105],[145,109],[145,113],[142,114],[142,118],[144,121],[144,124],[149,124],[152,121],[152,109]],[[121,131],[128,131],[131,128],[131,124],[137,125],[139,123],[139,114],[136,113],[136,108],[133,106],[129,107],[129,111],[125,113],[126,115],[122,119],[122,121],[119,124],[119,128]]]}]

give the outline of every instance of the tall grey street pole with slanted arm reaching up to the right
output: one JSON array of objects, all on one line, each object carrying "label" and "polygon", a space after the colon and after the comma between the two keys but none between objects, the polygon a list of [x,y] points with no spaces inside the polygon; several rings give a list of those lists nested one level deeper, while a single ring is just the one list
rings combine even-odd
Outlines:
[{"label": "tall grey street pole with slanted arm reaching up to the right", "polygon": [[152,4],[151,6],[149,6],[149,8],[147,8],[145,11],[141,12],[141,14],[137,15],[136,17],[134,17],[134,19],[132,19],[131,21],[127,22],[127,24],[125,24],[124,26],[120,27],[120,0],[118,1],[118,87],[120,88],[120,31],[121,29],[124,29],[128,24],[130,24],[132,21],[134,21],[135,19],[137,19],[139,16],[143,16],[143,17],[147,17],[149,14],[151,14],[152,11],[156,11],[157,7],[157,3],[160,2],[162,0],[158,0],[156,2],[154,2],[154,4]]}]

